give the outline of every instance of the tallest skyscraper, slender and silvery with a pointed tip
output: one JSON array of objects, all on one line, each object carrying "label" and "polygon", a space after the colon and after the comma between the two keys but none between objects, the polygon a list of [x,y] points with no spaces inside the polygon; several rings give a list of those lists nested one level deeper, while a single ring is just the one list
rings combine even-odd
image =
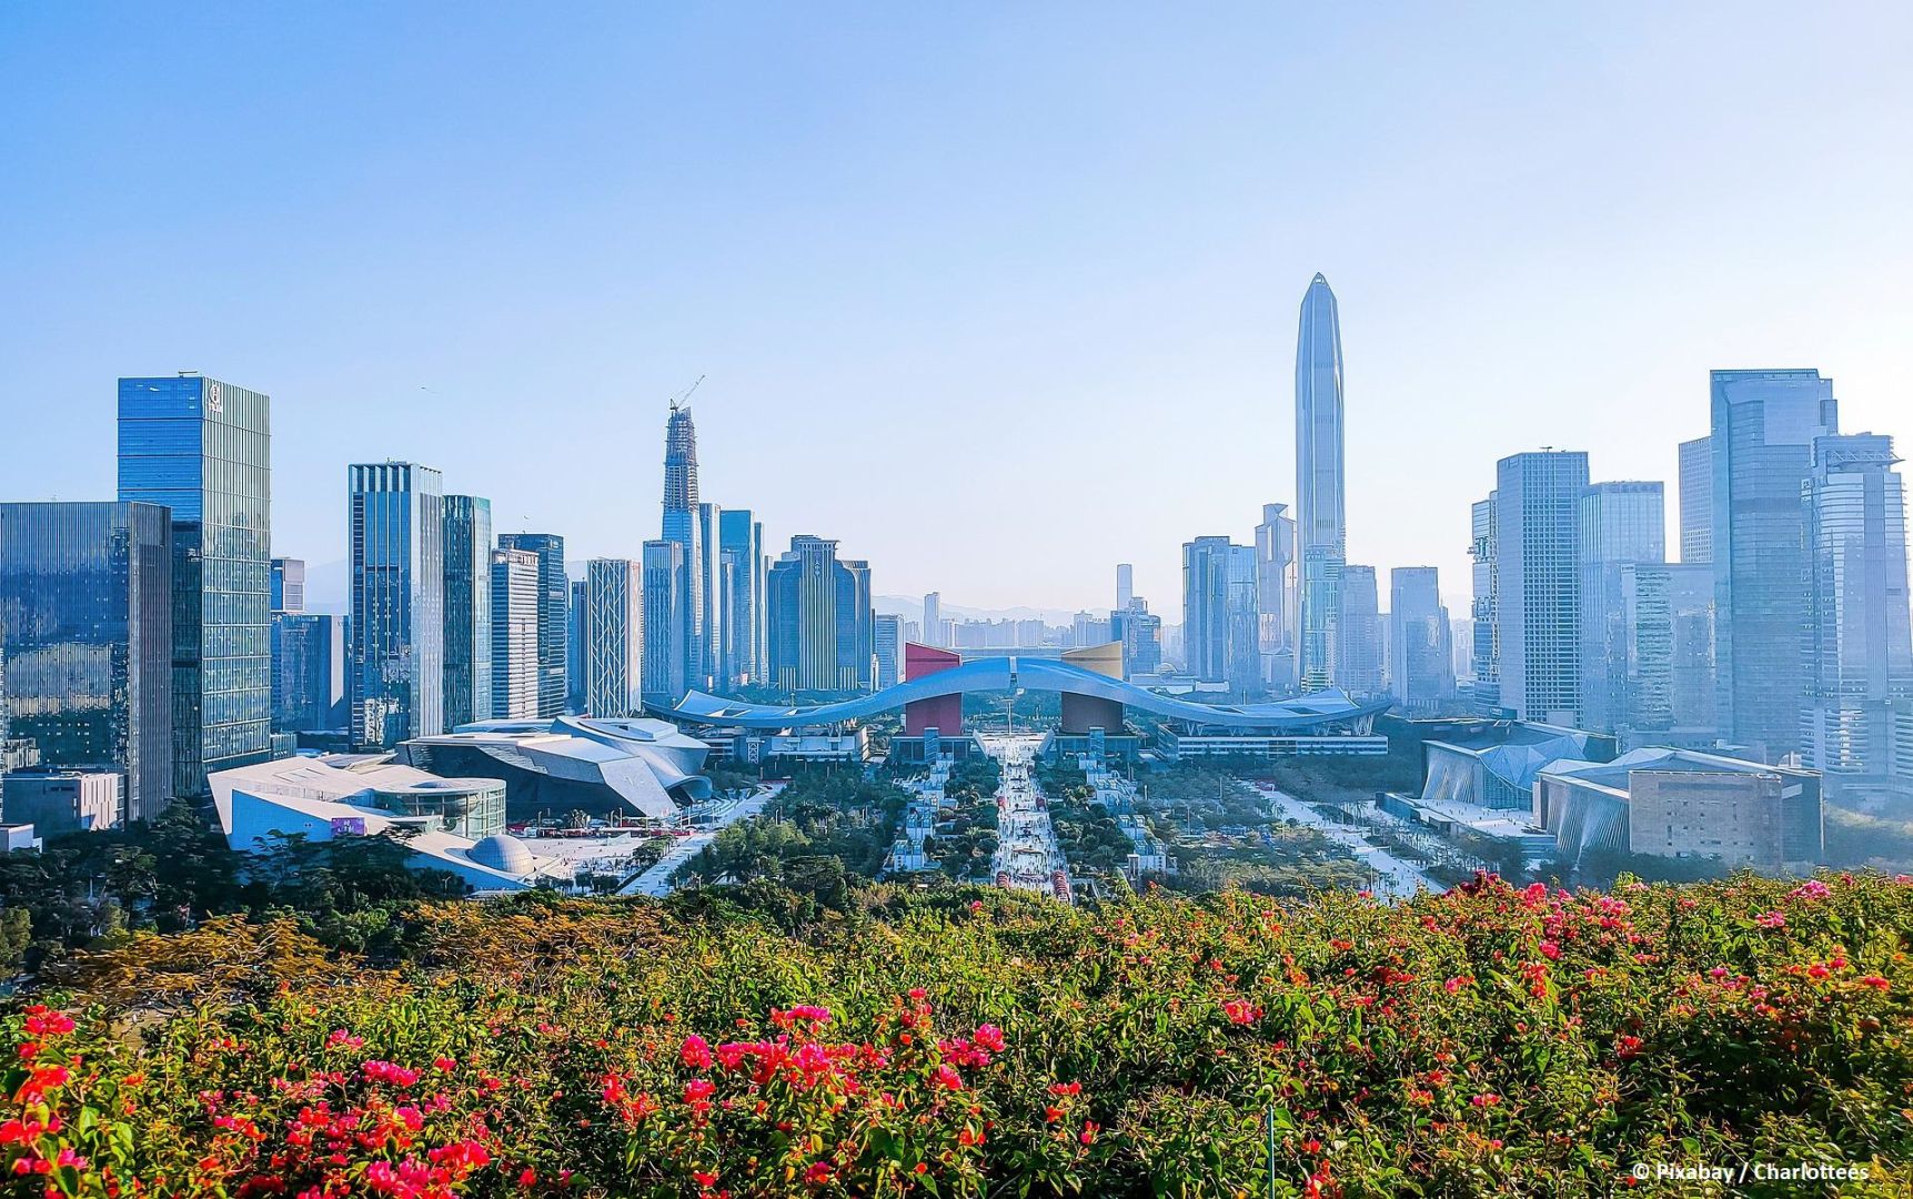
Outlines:
[{"label": "tallest skyscraper, slender and silvery with a pointed tip", "polygon": [[1303,296],[1295,337],[1295,549],[1301,560],[1301,687],[1335,683],[1341,568],[1349,556],[1341,463],[1341,316],[1328,279]]}]

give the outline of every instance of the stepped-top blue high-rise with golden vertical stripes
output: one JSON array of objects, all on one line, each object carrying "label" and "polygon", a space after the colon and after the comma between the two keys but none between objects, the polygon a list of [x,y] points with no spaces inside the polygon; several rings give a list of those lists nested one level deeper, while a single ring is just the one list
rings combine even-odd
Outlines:
[{"label": "stepped-top blue high-rise with golden vertical stripes", "polygon": [[836,541],[800,535],[771,564],[771,685],[784,692],[869,690],[876,665],[870,568]]}]

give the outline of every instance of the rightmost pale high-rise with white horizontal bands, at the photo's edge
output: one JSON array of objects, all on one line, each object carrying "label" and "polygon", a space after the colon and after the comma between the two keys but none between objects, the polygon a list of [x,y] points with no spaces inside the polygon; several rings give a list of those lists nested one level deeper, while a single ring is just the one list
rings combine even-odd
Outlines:
[{"label": "rightmost pale high-rise with white horizontal bands, at the photo's edge", "polygon": [[1896,723],[1913,706],[1898,461],[1886,436],[1815,438],[1806,486],[1802,763],[1846,796],[1913,797],[1913,763],[1894,746]]}]

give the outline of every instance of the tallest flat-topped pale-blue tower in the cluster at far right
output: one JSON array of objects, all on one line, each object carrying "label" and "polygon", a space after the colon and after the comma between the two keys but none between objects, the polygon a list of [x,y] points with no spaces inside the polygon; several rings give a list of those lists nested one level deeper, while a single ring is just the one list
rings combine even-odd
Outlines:
[{"label": "tallest flat-topped pale-blue tower in the cluster at far right", "polygon": [[1722,732],[1770,763],[1800,750],[1814,440],[1840,432],[1819,371],[1714,371],[1714,667]]}]

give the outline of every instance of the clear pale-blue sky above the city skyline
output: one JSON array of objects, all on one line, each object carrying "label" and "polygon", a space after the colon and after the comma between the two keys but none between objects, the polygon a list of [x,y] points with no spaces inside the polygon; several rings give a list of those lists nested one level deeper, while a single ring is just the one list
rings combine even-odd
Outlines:
[{"label": "clear pale-blue sky above the city skyline", "polygon": [[[1341,8],[1360,8],[1343,13]],[[1913,438],[1913,6],[0,6],[0,497],[113,381],[274,398],[274,539],[404,457],[576,556],[704,491],[880,593],[1178,612],[1293,493],[1341,298],[1351,558],[1467,593],[1494,459],[1672,476],[1708,367]]]}]

